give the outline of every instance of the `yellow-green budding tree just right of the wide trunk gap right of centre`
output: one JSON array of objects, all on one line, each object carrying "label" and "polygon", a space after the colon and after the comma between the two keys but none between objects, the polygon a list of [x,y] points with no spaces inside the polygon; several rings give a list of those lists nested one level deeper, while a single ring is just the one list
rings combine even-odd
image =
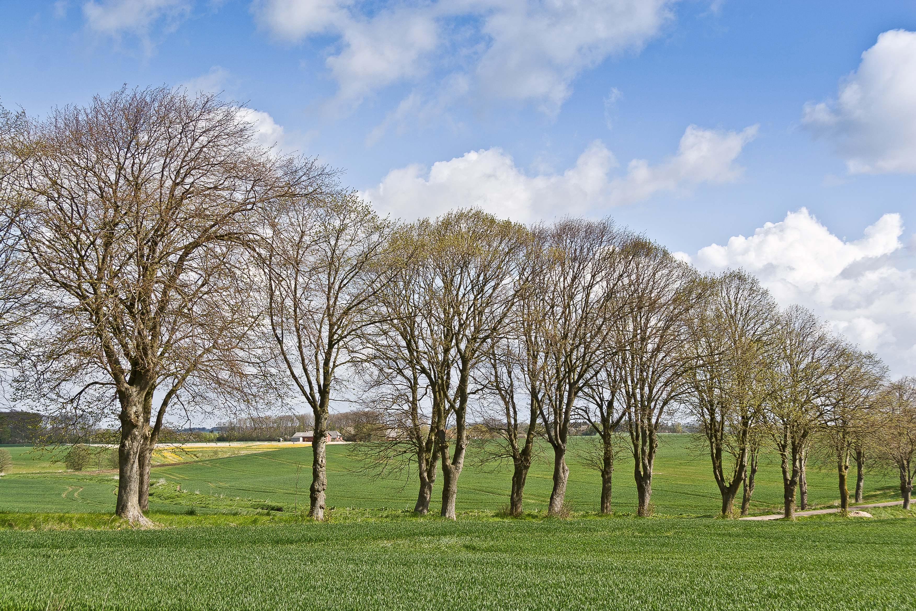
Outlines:
[{"label": "yellow-green budding tree just right of the wide trunk gap right of centre", "polygon": [[[709,299],[689,321],[697,366],[686,372],[690,390],[685,404],[700,424],[722,496],[722,515],[732,518],[738,488],[745,486],[747,503],[753,492],[747,464],[763,419],[779,310],[757,278],[743,271],[726,272],[710,282]],[[756,458],[755,453],[754,466]]]}]

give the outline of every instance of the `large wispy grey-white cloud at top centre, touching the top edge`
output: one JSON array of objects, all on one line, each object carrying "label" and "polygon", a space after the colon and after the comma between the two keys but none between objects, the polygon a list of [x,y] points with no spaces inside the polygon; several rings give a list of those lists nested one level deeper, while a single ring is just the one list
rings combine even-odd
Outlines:
[{"label": "large wispy grey-white cloud at top centre, touching the top edge", "polygon": [[[382,87],[416,82],[436,69],[447,79],[473,82],[468,96],[534,101],[553,114],[583,70],[616,52],[640,49],[656,36],[671,19],[671,4],[440,0],[369,6],[350,0],[259,0],[253,11],[261,27],[280,40],[336,39],[327,66],[340,86],[337,103],[359,104]],[[453,92],[452,83],[445,86]]]}]

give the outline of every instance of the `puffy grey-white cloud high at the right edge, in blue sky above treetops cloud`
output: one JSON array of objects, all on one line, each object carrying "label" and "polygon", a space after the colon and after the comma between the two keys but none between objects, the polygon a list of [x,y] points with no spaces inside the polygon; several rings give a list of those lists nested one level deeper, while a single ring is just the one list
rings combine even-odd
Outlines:
[{"label": "puffy grey-white cloud high at the right edge, in blue sky above treetops cloud", "polygon": [[916,32],[878,36],[835,102],[805,104],[802,125],[852,174],[916,173]]}]

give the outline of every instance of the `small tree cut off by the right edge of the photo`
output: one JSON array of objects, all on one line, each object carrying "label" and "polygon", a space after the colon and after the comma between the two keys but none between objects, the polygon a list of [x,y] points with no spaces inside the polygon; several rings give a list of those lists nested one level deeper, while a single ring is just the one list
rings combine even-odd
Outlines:
[{"label": "small tree cut off by the right edge of the photo", "polygon": [[876,447],[881,459],[900,475],[903,508],[910,508],[916,475],[916,378],[902,377],[882,393],[883,418]]}]

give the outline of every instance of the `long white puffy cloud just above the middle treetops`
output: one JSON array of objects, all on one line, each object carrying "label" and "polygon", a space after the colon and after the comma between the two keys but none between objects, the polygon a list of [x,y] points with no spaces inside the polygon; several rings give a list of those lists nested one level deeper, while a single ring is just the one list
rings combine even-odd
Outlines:
[{"label": "long white puffy cloud just above the middle treetops", "polygon": [[677,154],[658,165],[634,159],[623,176],[619,164],[600,140],[585,148],[573,168],[559,174],[529,176],[501,148],[465,153],[430,168],[413,164],[393,169],[364,196],[387,213],[416,218],[459,207],[476,206],[517,221],[645,200],[660,191],[686,193],[703,183],[736,180],[735,158],[754,137],[757,126],[742,132],[690,125]]}]

